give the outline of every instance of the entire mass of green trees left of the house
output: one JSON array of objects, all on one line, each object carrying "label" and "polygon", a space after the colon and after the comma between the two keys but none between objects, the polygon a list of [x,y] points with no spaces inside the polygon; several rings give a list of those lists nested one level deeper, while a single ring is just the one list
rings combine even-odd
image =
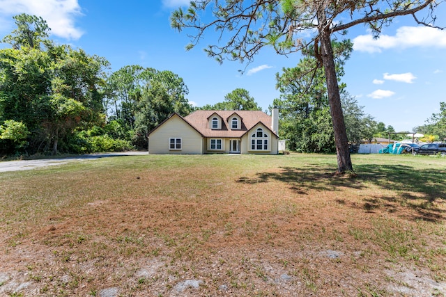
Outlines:
[{"label": "entire mass of green trees left of the house", "polygon": [[[189,90],[173,72],[128,65],[106,80],[105,58],[54,44],[41,17],[14,19],[17,29],[3,38],[12,48],[0,49],[0,152],[25,146],[31,154],[146,147],[148,131],[167,116],[192,111]],[[12,139],[10,131],[19,127],[12,123],[29,132]]]}]

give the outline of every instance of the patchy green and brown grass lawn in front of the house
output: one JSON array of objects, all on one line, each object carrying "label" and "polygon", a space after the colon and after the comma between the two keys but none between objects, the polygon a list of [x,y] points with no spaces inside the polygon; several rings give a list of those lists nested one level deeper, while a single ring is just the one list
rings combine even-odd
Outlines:
[{"label": "patchy green and brown grass lawn in front of the house", "polygon": [[0,296],[446,296],[446,158],[352,159],[0,172]]}]

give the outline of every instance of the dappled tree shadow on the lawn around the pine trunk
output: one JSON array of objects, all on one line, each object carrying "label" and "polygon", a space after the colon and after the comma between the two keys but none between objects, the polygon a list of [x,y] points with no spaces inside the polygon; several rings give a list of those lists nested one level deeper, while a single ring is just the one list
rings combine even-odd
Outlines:
[{"label": "dappled tree shadow on the lawn around the pine trunk", "polygon": [[[410,166],[359,165],[355,166],[357,177],[335,175],[332,166],[311,166],[307,168],[281,167],[279,172],[261,172],[255,177],[240,177],[237,182],[244,184],[283,182],[296,193],[305,195],[309,191],[344,191],[345,187],[360,190],[367,184],[374,184],[382,191],[362,200],[360,205],[348,205],[373,213],[378,210],[390,213],[412,209],[413,220],[440,222],[444,209],[433,202],[446,203],[446,170],[419,170]],[[390,194],[389,194],[390,193]],[[346,204],[344,200],[337,200]]]}]

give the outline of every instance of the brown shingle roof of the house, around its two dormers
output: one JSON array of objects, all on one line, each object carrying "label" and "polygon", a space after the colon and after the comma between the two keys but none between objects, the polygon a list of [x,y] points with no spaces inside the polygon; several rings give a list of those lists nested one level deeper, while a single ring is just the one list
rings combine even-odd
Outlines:
[{"label": "brown shingle roof of the house, around its two dormers", "polygon": [[[213,130],[209,128],[208,118],[215,113],[223,119],[222,129]],[[231,130],[228,128],[229,123],[226,120],[234,113],[243,119],[241,129]],[[205,137],[242,137],[259,122],[266,128],[271,129],[271,117],[263,111],[194,111],[194,113],[185,116],[184,119]]]}]

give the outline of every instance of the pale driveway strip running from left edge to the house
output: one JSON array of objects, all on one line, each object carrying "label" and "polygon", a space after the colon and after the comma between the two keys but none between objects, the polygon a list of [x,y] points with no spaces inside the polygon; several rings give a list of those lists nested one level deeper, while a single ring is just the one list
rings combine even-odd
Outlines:
[{"label": "pale driveway strip running from left edge to the house", "polygon": [[100,158],[108,158],[111,156],[139,156],[144,154],[148,154],[148,152],[112,152],[112,153],[98,153],[98,154],[82,154],[80,156],[70,156],[68,158],[59,158],[59,159],[3,161],[0,162],[0,172],[30,170],[39,167],[62,165],[73,161],[95,160]]}]

